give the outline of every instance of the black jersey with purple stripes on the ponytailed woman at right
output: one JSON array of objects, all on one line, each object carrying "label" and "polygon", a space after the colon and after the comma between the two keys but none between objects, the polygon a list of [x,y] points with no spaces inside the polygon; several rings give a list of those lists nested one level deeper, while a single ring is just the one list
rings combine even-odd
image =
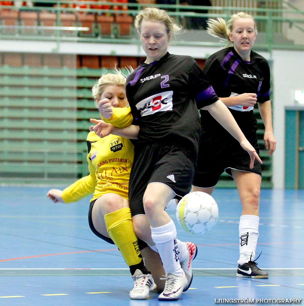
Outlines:
[{"label": "black jersey with purple stripes on the ponytailed woman at right", "polygon": [[[250,62],[243,61],[233,47],[224,48],[212,54],[206,61],[205,75],[212,84],[218,97],[230,97],[242,93],[256,93],[257,102],[269,100],[270,71],[267,60],[251,51]],[[257,145],[257,121],[253,118],[253,107],[229,107],[235,121],[250,143]],[[210,114],[201,110],[202,142],[210,142],[217,150],[227,149],[227,144],[242,147]],[[216,135],[216,137],[215,137]],[[238,149],[237,149],[238,147]]]}]

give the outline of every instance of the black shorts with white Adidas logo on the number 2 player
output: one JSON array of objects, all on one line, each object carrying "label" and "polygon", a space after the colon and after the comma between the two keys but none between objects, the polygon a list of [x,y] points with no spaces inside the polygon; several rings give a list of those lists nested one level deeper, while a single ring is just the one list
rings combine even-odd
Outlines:
[{"label": "black shorts with white Adidas logo on the number 2 player", "polygon": [[175,144],[137,145],[129,181],[132,216],[144,215],[143,196],[150,183],[163,183],[182,198],[191,190],[193,162]]}]

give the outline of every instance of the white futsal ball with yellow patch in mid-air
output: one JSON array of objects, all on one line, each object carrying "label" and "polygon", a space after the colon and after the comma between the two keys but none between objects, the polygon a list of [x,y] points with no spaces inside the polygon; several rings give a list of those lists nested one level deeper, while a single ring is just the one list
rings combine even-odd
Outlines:
[{"label": "white futsal ball with yellow patch in mid-air", "polygon": [[208,193],[186,194],[176,207],[176,219],[186,232],[203,234],[215,226],[219,216],[216,201]]}]

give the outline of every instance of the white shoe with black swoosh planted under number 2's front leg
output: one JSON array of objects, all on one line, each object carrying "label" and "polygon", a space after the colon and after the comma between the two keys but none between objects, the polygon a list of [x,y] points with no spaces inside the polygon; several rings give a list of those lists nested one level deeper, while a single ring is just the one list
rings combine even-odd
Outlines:
[{"label": "white shoe with black swoosh planted under number 2's front leg", "polygon": [[182,274],[183,276],[179,277],[171,273],[166,273],[166,277],[161,278],[161,280],[166,280],[166,283],[165,289],[158,297],[159,301],[177,301],[179,299],[188,284],[184,270],[182,270]]}]

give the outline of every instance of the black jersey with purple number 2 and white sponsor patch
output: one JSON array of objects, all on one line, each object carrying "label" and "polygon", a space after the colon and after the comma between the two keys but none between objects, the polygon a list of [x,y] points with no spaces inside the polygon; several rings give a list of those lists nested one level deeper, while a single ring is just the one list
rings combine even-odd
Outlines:
[{"label": "black jersey with purple number 2 and white sponsor patch", "polygon": [[126,94],[140,144],[172,143],[196,162],[198,109],[218,97],[192,57],[167,53],[157,62],[142,62],[127,77]]}]

